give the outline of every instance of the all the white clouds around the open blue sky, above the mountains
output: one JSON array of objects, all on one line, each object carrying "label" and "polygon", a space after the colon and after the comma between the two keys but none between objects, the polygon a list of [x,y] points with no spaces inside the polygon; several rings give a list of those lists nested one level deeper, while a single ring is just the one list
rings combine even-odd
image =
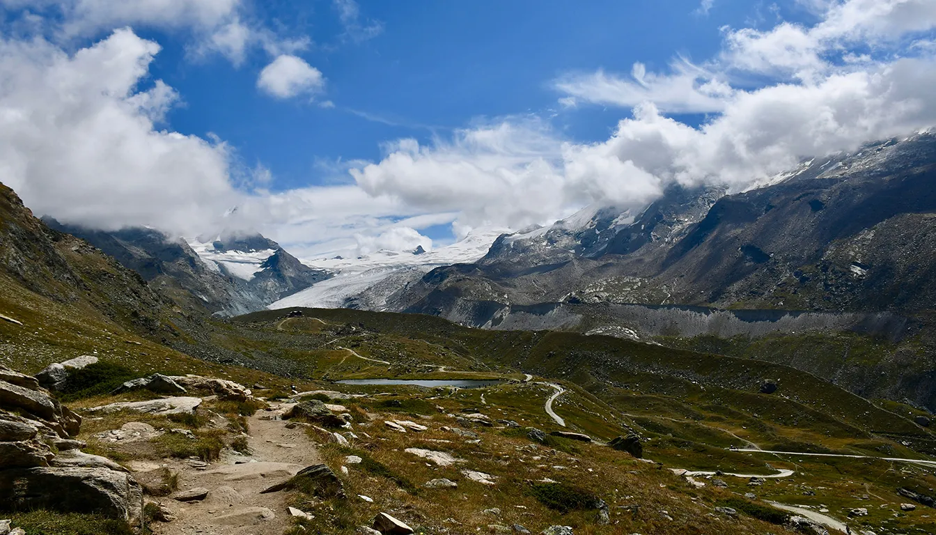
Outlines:
[{"label": "all the white clouds around the open blue sky, above the mountains", "polygon": [[[328,77],[291,55],[308,38],[245,22],[237,0],[40,2],[32,18],[17,2],[0,2],[21,15],[0,40],[2,180],[39,214],[106,229],[256,229],[309,252],[411,248],[431,245],[417,232],[430,225],[516,229],[590,203],[639,208],[674,182],[742,188],[804,156],[936,125],[936,4],[820,0],[811,25],[724,28],[722,51],[705,62],[553,80],[560,113],[620,110],[605,141],[569,139],[545,113],[507,116],[430,142],[388,141],[379,160],[344,164],[341,184],[271,192],[265,170],[224,140],[166,124],[184,96],[150,75],[159,44],[128,27],[83,48],[69,39],[171,26],[191,33],[193,54],[232,62],[254,43],[271,54],[258,89],[308,99]],[[359,22],[357,7],[336,8],[349,36],[381,31]]]}]

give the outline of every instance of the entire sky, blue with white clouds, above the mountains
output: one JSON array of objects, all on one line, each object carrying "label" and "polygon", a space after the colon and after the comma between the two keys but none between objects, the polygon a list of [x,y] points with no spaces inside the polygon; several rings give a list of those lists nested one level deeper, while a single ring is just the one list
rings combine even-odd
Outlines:
[{"label": "entire sky, blue with white clouds, above the mountains", "polygon": [[[102,229],[411,250],[936,125],[932,0],[0,0],[0,180]],[[234,209],[236,208],[236,210]]]}]

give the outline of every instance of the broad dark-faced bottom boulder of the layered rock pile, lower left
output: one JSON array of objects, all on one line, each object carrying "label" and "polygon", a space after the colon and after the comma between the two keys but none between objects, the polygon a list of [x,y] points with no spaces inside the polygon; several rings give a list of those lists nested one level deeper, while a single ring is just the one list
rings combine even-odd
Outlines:
[{"label": "broad dark-faced bottom boulder of the layered rock pile, lower left", "polygon": [[39,467],[0,470],[7,510],[100,513],[139,523],[143,491],[127,472],[109,468]]}]

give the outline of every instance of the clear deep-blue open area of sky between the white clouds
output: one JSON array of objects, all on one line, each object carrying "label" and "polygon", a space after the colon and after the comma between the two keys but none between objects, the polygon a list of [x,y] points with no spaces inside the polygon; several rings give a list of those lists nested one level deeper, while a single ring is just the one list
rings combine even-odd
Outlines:
[{"label": "clear deep-blue open area of sky between the white clouds", "polygon": [[[354,42],[343,39],[330,2],[298,4],[266,15],[312,37],[315,44],[299,55],[325,75],[317,98],[333,109],[262,95],[262,53],[238,67],[217,56],[188,62],[185,43],[141,34],[166,47],[151,72],[185,102],[168,114],[169,125],[219,135],[248,162],[269,167],[274,189],[350,180],[316,164],[379,159],[384,141],[430,141],[478,117],[551,114],[562,95],[549,82],[565,72],[626,72],[636,61],[665,67],[675,53],[708,58],[721,46],[719,27],[765,11],[738,0],[722,0],[708,15],[695,0],[360,2],[362,18],[383,29]],[[600,141],[621,116],[604,108],[563,112],[555,125],[570,138]]]}]

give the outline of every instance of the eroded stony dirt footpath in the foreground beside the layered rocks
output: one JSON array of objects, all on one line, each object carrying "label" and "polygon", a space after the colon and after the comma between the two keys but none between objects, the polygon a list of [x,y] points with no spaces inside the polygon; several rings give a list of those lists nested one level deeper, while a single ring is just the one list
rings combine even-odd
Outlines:
[{"label": "eroded stony dirt footpath in the foreground beside the layered rocks", "polygon": [[154,523],[155,533],[281,535],[289,527],[285,494],[259,493],[321,461],[301,427],[287,429],[286,422],[262,419],[270,414],[260,410],[248,419],[250,455],[228,454],[207,467],[197,462],[168,462],[168,468],[179,473],[180,493],[198,487],[209,493],[200,501],[160,498],[176,519],[168,524]]}]

